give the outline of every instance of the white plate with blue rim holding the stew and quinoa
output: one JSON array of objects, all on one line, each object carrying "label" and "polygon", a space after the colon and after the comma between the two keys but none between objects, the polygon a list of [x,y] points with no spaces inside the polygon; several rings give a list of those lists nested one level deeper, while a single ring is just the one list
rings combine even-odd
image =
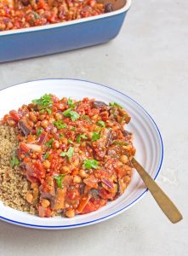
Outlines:
[{"label": "white plate with blue rim holding the stew and quinoa", "polygon": [[[75,79],[43,79],[17,84],[0,91],[0,116],[3,117],[3,114],[8,113],[9,110],[19,108],[22,104],[29,103],[32,99],[43,96],[45,93],[52,93],[59,97],[71,96],[78,100],[89,97],[122,105],[131,116],[127,130],[134,133],[134,146],[137,149],[136,159],[151,174],[151,177],[157,177],[162,166],[163,156],[162,137],[157,125],[137,102],[108,86]],[[58,230],[82,227],[99,223],[128,210],[143,198],[146,191],[145,185],[134,171],[133,180],[125,193],[116,201],[109,202],[96,212],[78,215],[75,218],[39,218],[5,207],[0,202],[0,219],[37,229]]]}]

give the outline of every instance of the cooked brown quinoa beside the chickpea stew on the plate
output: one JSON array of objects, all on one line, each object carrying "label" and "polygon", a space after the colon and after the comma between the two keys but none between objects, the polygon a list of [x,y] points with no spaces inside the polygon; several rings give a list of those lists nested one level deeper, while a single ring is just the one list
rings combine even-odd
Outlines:
[{"label": "cooked brown quinoa beside the chickpea stew on the plate", "polygon": [[34,214],[35,208],[26,201],[30,183],[22,175],[20,166],[11,166],[17,133],[14,127],[0,125],[0,201],[6,206]]}]

